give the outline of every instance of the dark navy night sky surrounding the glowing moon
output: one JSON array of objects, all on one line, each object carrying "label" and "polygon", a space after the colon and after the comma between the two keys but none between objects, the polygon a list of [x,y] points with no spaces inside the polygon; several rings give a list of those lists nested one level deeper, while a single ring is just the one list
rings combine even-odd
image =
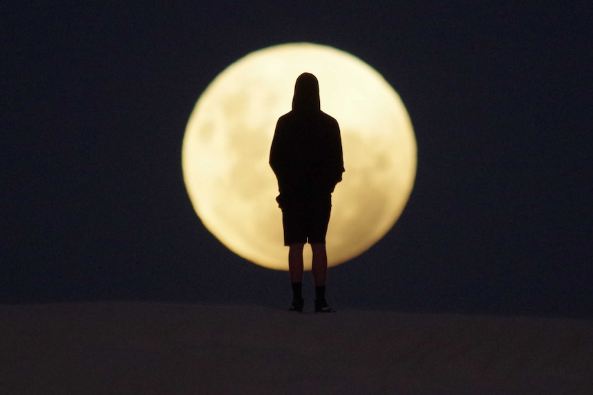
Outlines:
[{"label": "dark navy night sky surrounding the glowing moon", "polygon": [[0,302],[284,308],[288,273],[204,228],[180,152],[220,71],[309,41],[385,76],[418,140],[404,214],[330,269],[334,306],[593,317],[588,2],[13,3],[0,24]]}]

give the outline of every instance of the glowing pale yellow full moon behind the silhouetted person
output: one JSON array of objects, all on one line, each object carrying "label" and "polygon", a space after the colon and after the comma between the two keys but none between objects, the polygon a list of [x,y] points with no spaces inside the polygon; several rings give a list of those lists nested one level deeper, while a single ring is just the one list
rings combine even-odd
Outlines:
[{"label": "glowing pale yellow full moon behind the silhouetted person", "polygon": [[330,267],[389,232],[416,177],[416,137],[405,106],[363,60],[312,43],[274,45],[237,60],[195,104],[183,139],[183,177],[204,226],[231,251],[270,269],[288,270],[270,145],[305,71],[319,80],[321,110],[336,118],[342,135],[346,171],[332,195]]}]

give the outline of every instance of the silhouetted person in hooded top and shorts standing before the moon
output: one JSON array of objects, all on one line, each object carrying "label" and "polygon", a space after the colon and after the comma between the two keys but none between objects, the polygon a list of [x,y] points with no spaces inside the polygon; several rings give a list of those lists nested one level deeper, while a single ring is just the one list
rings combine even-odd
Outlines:
[{"label": "silhouetted person in hooded top and shorts standing before the moon", "polygon": [[282,115],[274,132],[270,166],[278,179],[276,200],[282,210],[284,245],[292,283],[291,311],[303,311],[303,247],[311,244],[315,312],[333,313],[325,302],[327,253],[325,234],[332,210],[332,192],[342,180],[344,161],[340,127],[323,113],[319,84],[303,73],[294,85],[292,111]]}]

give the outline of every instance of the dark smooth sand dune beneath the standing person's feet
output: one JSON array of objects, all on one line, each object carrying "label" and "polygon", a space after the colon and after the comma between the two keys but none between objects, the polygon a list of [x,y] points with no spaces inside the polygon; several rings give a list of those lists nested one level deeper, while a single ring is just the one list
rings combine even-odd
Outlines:
[{"label": "dark smooth sand dune beneath the standing person's feet", "polygon": [[593,394],[593,321],[0,306],[0,394]]}]

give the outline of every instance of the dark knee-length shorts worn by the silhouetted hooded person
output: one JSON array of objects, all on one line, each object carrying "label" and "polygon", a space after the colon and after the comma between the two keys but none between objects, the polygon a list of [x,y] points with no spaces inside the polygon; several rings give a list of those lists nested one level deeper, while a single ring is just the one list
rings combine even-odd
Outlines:
[{"label": "dark knee-length shorts worn by the silhouetted hooded person", "polygon": [[330,223],[332,196],[311,201],[285,202],[282,205],[284,245],[324,243]]}]

